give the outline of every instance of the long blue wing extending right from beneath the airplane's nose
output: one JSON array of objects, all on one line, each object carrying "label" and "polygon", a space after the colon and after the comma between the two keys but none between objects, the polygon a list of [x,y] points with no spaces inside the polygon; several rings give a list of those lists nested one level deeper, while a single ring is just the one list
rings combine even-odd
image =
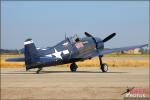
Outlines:
[{"label": "long blue wing extending right from beneath the airplane's nose", "polygon": [[142,48],[142,47],[145,47],[145,46],[148,46],[148,44],[121,47],[121,48],[114,48],[114,49],[110,49],[110,50],[103,50],[102,52],[100,52],[100,55],[109,54],[109,53],[113,53],[113,52],[127,51],[127,50],[132,50],[132,49],[135,49],[135,48]]}]

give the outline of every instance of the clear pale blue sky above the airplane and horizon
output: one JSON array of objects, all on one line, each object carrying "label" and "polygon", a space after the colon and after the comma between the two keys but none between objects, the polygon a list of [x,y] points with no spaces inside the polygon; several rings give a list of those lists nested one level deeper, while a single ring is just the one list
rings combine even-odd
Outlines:
[{"label": "clear pale blue sky above the airplane and horizon", "polygon": [[20,49],[27,38],[50,47],[65,38],[89,32],[107,48],[149,41],[148,1],[1,1],[1,48]]}]

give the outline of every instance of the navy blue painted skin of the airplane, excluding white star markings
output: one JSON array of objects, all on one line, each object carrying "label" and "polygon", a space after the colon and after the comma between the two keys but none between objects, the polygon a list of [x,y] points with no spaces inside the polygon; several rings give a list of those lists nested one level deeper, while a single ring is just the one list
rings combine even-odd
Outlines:
[{"label": "navy blue painted skin of the airplane, excluding white star markings", "polygon": [[[47,67],[47,66],[54,66],[54,65],[61,65],[67,63],[73,63],[77,61],[83,61],[86,59],[90,59],[95,56],[102,56],[104,54],[119,52],[123,50],[130,50],[135,48],[141,48],[145,45],[137,45],[137,46],[129,46],[129,47],[122,47],[122,48],[115,48],[111,50],[104,50],[104,43],[103,41],[98,38],[94,37],[93,40],[91,37],[84,37],[79,38],[80,42],[83,43],[84,47],[76,48],[75,39],[74,37],[67,37],[65,40],[59,42],[57,45],[53,47],[45,48],[46,50],[36,49],[34,43],[27,44],[24,46],[25,52],[25,59],[24,58],[10,58],[6,61],[25,61],[26,69],[38,68],[38,67]],[[26,41],[30,41],[31,39],[27,39]],[[97,49],[96,44],[97,43]],[[68,45],[64,46],[64,43],[68,43]],[[60,58],[56,58],[54,55],[52,57],[48,57],[46,55],[54,53],[54,48],[59,52],[63,50],[68,50],[69,54],[61,53]]]}]

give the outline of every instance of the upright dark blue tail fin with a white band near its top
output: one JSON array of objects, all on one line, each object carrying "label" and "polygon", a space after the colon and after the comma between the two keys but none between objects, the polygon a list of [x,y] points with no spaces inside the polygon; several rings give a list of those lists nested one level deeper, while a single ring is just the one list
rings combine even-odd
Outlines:
[{"label": "upright dark blue tail fin with a white band near its top", "polygon": [[31,69],[31,66],[36,64],[37,59],[39,58],[36,47],[32,39],[26,39],[24,41],[24,55],[25,55],[25,65],[26,70]]}]

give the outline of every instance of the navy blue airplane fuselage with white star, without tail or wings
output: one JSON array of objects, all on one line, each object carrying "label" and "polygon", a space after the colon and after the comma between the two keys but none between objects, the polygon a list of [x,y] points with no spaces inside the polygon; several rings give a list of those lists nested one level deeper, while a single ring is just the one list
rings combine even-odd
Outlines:
[{"label": "navy blue airplane fuselage with white star, without tail or wings", "polygon": [[[96,38],[96,40],[99,42],[99,50],[103,49],[104,46],[101,43],[101,39]],[[36,66],[46,67],[85,60],[83,58],[79,59],[79,57],[91,52],[97,52],[97,49],[91,37],[80,38],[78,41],[70,37],[53,47],[37,49],[37,51],[40,57]]]}]

